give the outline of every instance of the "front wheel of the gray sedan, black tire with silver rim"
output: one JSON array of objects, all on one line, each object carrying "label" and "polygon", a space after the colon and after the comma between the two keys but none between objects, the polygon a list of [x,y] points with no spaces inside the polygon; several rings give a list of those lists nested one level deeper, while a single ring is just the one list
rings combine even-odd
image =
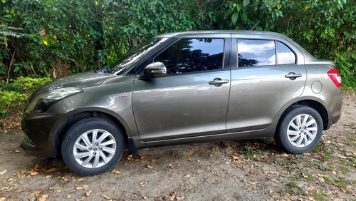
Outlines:
[{"label": "front wheel of the gray sedan, black tire with silver rim", "polygon": [[97,175],[117,164],[124,147],[124,136],[117,125],[107,119],[86,118],[72,125],[64,136],[62,157],[73,172]]}]

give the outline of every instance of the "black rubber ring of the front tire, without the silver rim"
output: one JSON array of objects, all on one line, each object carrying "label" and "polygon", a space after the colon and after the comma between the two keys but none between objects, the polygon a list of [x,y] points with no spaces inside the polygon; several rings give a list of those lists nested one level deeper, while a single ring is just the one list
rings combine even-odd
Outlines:
[{"label": "black rubber ring of the front tire, without the silver rim", "polygon": [[[109,163],[101,166],[100,168],[85,168],[76,162],[73,156],[73,147],[75,145],[75,141],[80,137],[80,135],[87,132],[88,130],[94,129],[106,130],[111,133],[116,141],[116,151],[115,155],[112,157]],[[68,168],[73,170],[73,172],[76,172],[80,175],[97,175],[110,170],[114,165],[117,164],[117,162],[122,157],[124,147],[125,140],[122,132],[120,131],[120,128],[118,128],[117,125],[107,119],[86,118],[72,125],[64,136],[62,143],[62,157],[64,163],[66,163]]]}]

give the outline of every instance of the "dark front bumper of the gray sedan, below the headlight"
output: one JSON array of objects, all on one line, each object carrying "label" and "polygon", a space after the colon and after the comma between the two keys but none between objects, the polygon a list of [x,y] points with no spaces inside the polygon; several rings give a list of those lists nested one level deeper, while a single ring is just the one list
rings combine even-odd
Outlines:
[{"label": "dark front bumper of the gray sedan, below the headlight", "polygon": [[46,158],[56,157],[53,148],[53,137],[62,114],[25,113],[22,118],[22,130],[27,137],[23,139],[21,148],[31,155]]}]

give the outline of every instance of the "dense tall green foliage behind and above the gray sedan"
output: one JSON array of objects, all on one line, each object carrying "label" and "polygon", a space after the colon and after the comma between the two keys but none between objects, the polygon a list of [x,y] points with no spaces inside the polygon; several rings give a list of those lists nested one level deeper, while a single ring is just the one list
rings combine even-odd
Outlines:
[{"label": "dense tall green foliage behind and above the gray sedan", "polygon": [[108,65],[159,33],[256,29],[283,33],[335,61],[355,87],[356,1],[0,1],[0,78],[59,78]]}]

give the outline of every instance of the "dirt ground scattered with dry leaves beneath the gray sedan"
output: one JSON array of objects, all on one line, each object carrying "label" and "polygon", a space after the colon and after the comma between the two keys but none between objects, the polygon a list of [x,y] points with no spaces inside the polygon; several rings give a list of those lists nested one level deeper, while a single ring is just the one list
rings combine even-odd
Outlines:
[{"label": "dirt ground scattered with dry leaves beneath the gray sedan", "polygon": [[84,177],[61,159],[19,147],[21,130],[0,133],[2,200],[356,200],[356,93],[310,153],[273,139],[177,145],[124,155],[110,172]]}]

